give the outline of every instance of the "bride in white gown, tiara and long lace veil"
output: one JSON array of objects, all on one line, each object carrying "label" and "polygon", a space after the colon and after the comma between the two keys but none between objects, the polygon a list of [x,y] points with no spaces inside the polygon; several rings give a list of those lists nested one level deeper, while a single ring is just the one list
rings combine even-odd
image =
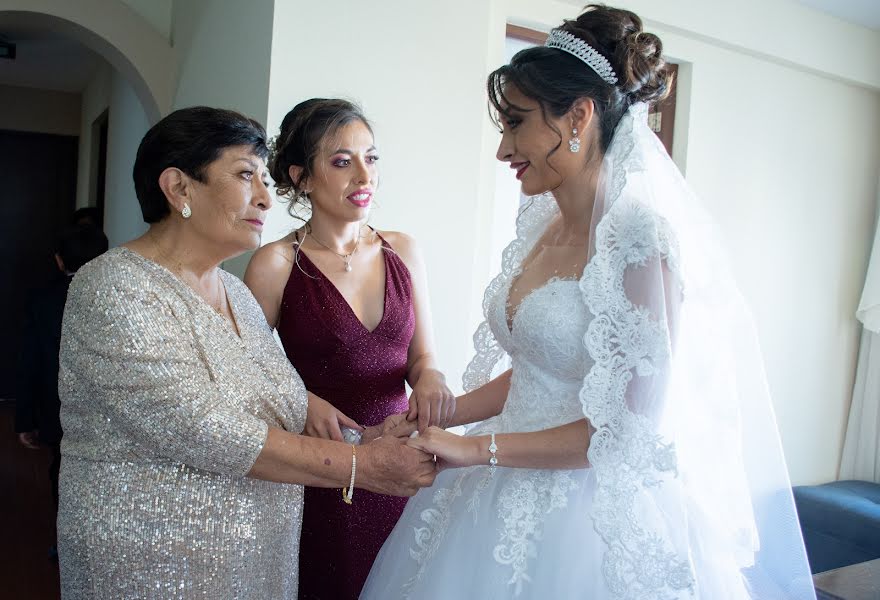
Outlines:
[{"label": "bride in white gown, tiara and long lace veil", "polygon": [[661,52],[589,6],[489,76],[532,198],[453,423],[478,424],[409,440],[447,470],[361,598],[815,598],[751,317],[647,125]]}]

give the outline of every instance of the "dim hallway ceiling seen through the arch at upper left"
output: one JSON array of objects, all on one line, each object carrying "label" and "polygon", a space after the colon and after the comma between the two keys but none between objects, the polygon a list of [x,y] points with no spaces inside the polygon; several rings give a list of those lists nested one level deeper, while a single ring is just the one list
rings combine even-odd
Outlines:
[{"label": "dim hallway ceiling seen through the arch at upper left", "polygon": [[0,25],[0,36],[14,42],[15,60],[0,59],[0,84],[81,92],[103,58],[57,34],[24,26]]}]

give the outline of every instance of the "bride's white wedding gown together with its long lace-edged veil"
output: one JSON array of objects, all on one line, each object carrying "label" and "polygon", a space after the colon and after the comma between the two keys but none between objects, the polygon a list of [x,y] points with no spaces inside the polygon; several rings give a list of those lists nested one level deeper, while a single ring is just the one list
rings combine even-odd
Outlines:
[{"label": "bride's white wedding gown together with its long lace-edged veil", "polygon": [[532,291],[509,328],[511,281],[558,215],[530,200],[486,291],[464,387],[505,355],[513,374],[467,435],[586,417],[590,467],[442,472],[361,598],[815,600],[751,315],[646,106],[605,154],[582,277]]}]

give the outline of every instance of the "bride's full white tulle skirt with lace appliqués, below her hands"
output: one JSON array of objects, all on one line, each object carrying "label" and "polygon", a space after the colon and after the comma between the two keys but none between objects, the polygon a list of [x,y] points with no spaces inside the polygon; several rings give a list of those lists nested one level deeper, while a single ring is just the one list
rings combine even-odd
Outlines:
[{"label": "bride's full white tulle skirt with lace appliqu\u00e9s, below her hands", "polygon": [[410,499],[361,599],[609,598],[590,469],[453,469]]}]

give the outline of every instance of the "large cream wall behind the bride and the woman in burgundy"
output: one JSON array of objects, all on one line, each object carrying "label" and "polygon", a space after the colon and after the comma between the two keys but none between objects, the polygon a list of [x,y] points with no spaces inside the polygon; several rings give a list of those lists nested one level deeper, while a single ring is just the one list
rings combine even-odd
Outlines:
[{"label": "large cream wall behind the bride and the woman in burgundy", "polygon": [[[382,151],[372,222],[419,240],[441,363],[458,383],[500,251],[486,233],[507,210],[494,199],[484,77],[502,62],[505,21],[549,29],[582,3],[452,0],[421,3],[418,18],[404,0],[339,4],[276,2],[270,133],[305,98],[362,102]],[[792,477],[834,479],[875,214],[880,33],[781,1],[619,4],[690,75],[676,158],[755,312]],[[267,240],[291,225],[276,207]]]}]

